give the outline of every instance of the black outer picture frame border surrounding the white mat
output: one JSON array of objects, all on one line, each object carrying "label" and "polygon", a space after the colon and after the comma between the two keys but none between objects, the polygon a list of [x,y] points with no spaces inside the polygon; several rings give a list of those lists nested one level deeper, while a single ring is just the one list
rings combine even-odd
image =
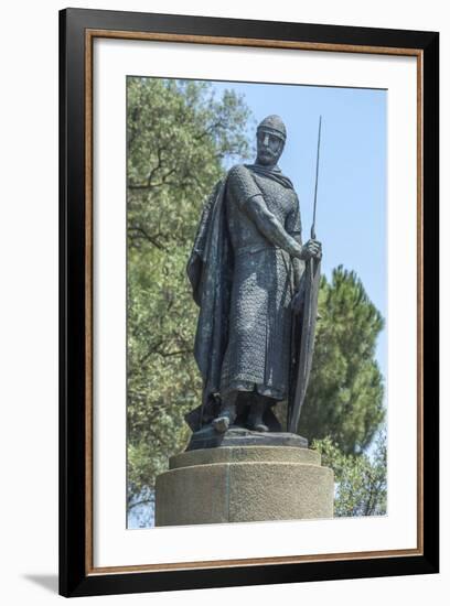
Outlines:
[{"label": "black outer picture frame border surrounding the white mat", "polygon": [[[414,48],[422,61],[422,393],[421,545],[416,553],[321,562],[199,566],[184,570],[89,572],[86,410],[92,360],[86,353],[89,277],[86,255],[86,32],[150,32],[344,47]],[[354,52],[354,51],[353,51]],[[302,581],[428,574],[439,571],[439,34],[436,32],[346,28],[66,9],[60,13],[60,593],[85,596],[176,591]]]}]

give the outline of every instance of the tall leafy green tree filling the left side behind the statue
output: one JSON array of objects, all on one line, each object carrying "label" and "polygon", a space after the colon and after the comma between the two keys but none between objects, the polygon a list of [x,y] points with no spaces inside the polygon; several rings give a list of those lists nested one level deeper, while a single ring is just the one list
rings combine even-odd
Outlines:
[{"label": "tall leafy green tree filling the left side behind the statue", "polygon": [[[204,198],[226,156],[248,156],[249,111],[207,83],[127,80],[128,500],[151,495],[200,402],[197,309],[185,277]],[[150,497],[149,497],[150,499]]]}]

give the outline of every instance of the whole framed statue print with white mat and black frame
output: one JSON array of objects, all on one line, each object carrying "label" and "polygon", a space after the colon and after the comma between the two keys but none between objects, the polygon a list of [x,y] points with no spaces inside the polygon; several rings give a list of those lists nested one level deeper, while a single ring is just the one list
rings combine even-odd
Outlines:
[{"label": "whole framed statue print with white mat and black frame", "polygon": [[60,15],[60,592],[438,572],[435,32]]}]

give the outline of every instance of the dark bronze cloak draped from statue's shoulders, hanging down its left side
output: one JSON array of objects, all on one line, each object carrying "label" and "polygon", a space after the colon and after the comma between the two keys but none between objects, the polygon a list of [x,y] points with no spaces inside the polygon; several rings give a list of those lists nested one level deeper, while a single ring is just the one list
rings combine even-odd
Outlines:
[{"label": "dark bronze cloak draped from statue's shoulders, hanging down its left side", "polygon": [[[266,169],[258,165],[246,165],[246,167],[251,174],[267,177],[282,185],[282,188],[293,191],[291,182],[278,167]],[[223,383],[224,380],[223,366],[228,345],[228,317],[235,269],[235,250],[232,245],[232,235],[228,232],[229,223],[226,215],[227,182],[228,177],[217,183],[204,206],[186,268],[193,297],[200,307],[194,356],[203,377],[202,405],[186,415],[186,421],[193,430],[200,429],[217,414],[219,407],[217,396],[221,392],[221,381]],[[275,252],[275,247],[268,241],[266,244],[266,248]],[[286,313],[291,314],[290,309]],[[290,322],[288,329],[290,331]],[[294,329],[293,324],[292,329]],[[290,362],[296,359],[294,350],[298,349],[300,335],[296,336],[293,343],[290,342],[291,336],[291,334],[288,335],[289,349],[293,347],[292,351],[288,350],[286,360],[288,375],[291,371]],[[233,355],[227,357],[233,359]]]}]

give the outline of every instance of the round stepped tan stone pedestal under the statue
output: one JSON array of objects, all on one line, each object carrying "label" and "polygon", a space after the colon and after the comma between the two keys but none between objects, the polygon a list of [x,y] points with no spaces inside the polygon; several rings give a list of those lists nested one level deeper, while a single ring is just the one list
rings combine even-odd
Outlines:
[{"label": "round stepped tan stone pedestal under the statue", "polygon": [[193,450],[157,478],[156,526],[332,518],[333,495],[333,472],[308,448]]}]

